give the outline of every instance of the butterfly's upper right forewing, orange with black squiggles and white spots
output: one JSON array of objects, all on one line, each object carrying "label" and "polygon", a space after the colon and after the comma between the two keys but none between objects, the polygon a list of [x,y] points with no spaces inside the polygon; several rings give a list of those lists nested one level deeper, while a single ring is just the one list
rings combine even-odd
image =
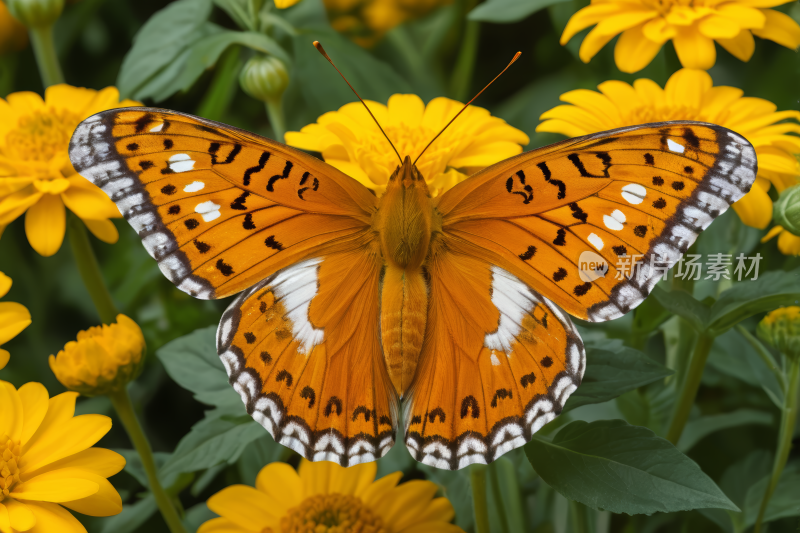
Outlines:
[{"label": "butterfly's upper right forewing, orange with black squiggles and white spots", "polygon": [[[645,124],[502,161],[437,208],[443,230],[476,245],[479,257],[570,314],[604,321],[647,297],[750,190],[756,167],[750,143],[720,126]],[[592,260],[608,265],[605,276],[587,268],[581,276]]]}]

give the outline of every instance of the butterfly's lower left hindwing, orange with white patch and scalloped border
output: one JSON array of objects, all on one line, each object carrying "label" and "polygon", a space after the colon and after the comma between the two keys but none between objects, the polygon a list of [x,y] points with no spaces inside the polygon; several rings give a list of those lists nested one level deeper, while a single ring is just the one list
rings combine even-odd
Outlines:
[{"label": "butterfly's lower left hindwing, orange with white patch and scalloped border", "polygon": [[377,328],[382,263],[373,244],[362,235],[270,276],[236,298],[217,332],[247,411],[312,461],[352,466],[394,445],[397,398]]}]

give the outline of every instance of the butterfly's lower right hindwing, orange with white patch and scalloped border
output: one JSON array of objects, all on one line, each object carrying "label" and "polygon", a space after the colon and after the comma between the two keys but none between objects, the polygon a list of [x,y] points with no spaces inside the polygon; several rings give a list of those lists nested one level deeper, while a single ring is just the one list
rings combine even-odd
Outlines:
[{"label": "butterfly's lower right hindwing, orange with white patch and scalloped border", "polygon": [[427,264],[428,326],[406,412],[418,461],[456,470],[528,442],[580,385],[569,317],[474,244],[442,234]]}]

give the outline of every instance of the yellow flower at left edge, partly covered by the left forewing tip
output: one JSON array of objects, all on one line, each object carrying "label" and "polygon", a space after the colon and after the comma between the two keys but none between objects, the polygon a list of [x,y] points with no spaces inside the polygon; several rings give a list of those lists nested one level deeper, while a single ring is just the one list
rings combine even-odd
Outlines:
[{"label": "yellow flower at left edge, partly covered by the left forewing tip", "polygon": [[139,104],[120,102],[114,87],[94,91],[54,85],[44,100],[31,92],[0,98],[0,234],[27,211],[28,242],[39,254],[53,255],[64,240],[66,204],[98,239],[117,242],[109,218],[119,218],[119,211],[103,191],[75,173],[67,151],[80,121],[132,105]]}]

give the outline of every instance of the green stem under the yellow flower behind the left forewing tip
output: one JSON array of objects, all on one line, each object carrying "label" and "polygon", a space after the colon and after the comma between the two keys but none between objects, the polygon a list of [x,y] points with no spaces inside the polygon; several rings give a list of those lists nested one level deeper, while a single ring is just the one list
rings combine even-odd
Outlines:
[{"label": "green stem under the yellow flower behind the left forewing tip", "polygon": [[72,214],[67,222],[67,235],[78,271],[97,308],[100,321],[104,324],[113,324],[117,320],[119,311],[111,300],[111,294],[103,281],[103,274],[100,272],[100,265],[97,263],[92,244],[89,242],[86,226],[80,218]]}]

